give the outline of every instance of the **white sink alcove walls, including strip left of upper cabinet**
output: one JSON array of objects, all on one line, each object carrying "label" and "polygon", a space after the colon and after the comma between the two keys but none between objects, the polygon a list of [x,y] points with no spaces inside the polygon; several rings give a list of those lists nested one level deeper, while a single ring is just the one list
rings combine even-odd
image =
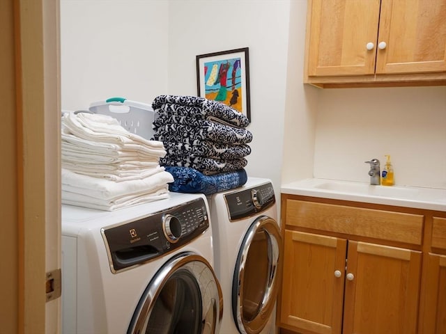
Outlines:
[{"label": "white sink alcove walls, including strip left of upper cabinet", "polygon": [[390,154],[396,184],[446,189],[446,87],[303,85],[306,10],[291,1],[282,184],[369,182],[364,161]]}]

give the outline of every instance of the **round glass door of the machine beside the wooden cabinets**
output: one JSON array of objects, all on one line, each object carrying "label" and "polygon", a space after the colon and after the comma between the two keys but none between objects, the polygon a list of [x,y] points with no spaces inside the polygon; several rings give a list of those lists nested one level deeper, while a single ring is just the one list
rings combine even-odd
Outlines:
[{"label": "round glass door of the machine beside the wooden cabinets", "polygon": [[232,284],[233,317],[240,333],[260,333],[275,308],[281,240],[277,222],[267,216],[257,218],[245,234]]}]

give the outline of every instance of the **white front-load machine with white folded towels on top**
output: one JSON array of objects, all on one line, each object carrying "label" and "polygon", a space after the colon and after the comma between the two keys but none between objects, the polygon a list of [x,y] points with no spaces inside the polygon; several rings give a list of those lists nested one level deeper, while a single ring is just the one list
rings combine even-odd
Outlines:
[{"label": "white front-load machine with white folded towels on top", "polygon": [[63,205],[63,333],[219,333],[213,262],[203,195],[116,212]]}]

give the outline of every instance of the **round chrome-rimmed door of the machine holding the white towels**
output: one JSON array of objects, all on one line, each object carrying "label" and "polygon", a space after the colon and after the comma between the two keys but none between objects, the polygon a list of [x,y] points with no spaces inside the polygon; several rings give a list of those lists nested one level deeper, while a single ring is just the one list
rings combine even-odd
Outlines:
[{"label": "round chrome-rimmed door of the machine holding the white towels", "polygon": [[128,333],[219,333],[223,315],[220,283],[209,262],[192,252],[172,257],[141,296]]}]

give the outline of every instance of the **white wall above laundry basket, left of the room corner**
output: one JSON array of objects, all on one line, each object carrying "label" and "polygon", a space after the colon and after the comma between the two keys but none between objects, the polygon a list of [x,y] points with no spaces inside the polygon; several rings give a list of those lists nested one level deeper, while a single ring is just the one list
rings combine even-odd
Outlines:
[{"label": "white wall above laundry basket, left of the room corner", "polygon": [[169,1],[61,0],[62,109],[167,92]]}]

